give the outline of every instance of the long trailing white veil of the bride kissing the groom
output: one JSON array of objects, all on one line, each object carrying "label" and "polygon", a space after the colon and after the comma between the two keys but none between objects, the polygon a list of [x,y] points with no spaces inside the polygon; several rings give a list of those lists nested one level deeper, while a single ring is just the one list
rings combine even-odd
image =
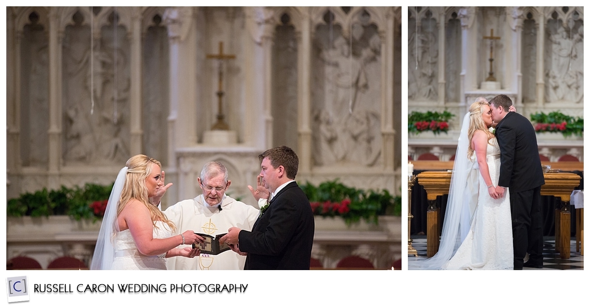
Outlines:
[{"label": "long trailing white veil of the bride kissing the groom", "polygon": [[463,117],[461,134],[457,143],[453,175],[451,175],[451,185],[448,193],[447,210],[445,211],[444,222],[442,223],[441,242],[438,253],[428,259],[419,258],[417,260],[408,260],[408,269],[441,269],[442,265],[453,257],[470,229],[469,206],[473,203],[473,190],[476,193],[475,198],[477,199],[477,186],[473,188],[467,183],[470,180],[471,170],[474,164],[476,164],[467,157],[469,148],[469,139],[467,136],[469,122],[470,113],[467,112]]}]

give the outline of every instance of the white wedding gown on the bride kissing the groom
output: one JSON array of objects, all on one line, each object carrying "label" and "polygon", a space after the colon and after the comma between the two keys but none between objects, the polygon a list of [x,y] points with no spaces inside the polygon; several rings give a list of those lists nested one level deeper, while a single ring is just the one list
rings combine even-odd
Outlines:
[{"label": "white wedding gown on the bride kissing the groom", "polygon": [[[500,175],[500,148],[491,139],[486,151],[487,166],[494,186]],[[475,162],[477,167],[477,160]],[[461,246],[443,269],[448,270],[506,270],[513,269],[512,219],[509,190],[503,197],[490,196],[479,171],[479,196],[471,228]]]}]

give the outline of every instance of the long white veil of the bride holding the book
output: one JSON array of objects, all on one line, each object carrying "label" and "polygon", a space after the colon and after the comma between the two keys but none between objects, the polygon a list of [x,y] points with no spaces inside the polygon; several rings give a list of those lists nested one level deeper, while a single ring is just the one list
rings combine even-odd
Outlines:
[{"label": "long white veil of the bride holding the book", "polygon": [[119,232],[117,223],[117,203],[123,191],[127,167],[123,167],[114,181],[113,190],[109,196],[106,211],[104,211],[103,223],[100,226],[99,237],[94,247],[94,255],[90,263],[91,270],[110,270],[114,260],[113,239],[115,233]]}]

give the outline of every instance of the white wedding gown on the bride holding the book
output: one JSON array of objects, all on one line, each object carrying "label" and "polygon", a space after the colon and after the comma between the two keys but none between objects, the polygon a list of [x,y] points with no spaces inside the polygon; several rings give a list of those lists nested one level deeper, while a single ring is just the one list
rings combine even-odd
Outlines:
[{"label": "white wedding gown on the bride holding the book", "polygon": [[[168,224],[156,221],[156,225],[158,227],[153,228],[154,238],[172,237],[172,230]],[[129,229],[117,232],[114,251],[113,270],[166,270],[166,258],[146,256],[137,250]]]}]

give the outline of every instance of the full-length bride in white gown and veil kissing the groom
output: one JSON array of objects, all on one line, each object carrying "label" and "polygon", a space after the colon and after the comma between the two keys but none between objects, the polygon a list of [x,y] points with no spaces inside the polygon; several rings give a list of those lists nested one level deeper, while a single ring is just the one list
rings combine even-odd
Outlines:
[{"label": "full-length bride in white gown and veil kissing the groom", "polygon": [[[513,110],[513,109],[510,109]],[[408,269],[512,269],[510,197],[495,191],[500,148],[483,97],[463,119],[438,253]]]}]

